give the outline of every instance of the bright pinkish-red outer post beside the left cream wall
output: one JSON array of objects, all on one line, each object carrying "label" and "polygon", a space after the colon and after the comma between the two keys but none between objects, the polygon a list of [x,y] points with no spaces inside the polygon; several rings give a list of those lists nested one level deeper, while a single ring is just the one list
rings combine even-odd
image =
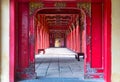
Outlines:
[{"label": "bright pinkish-red outer post beside the left cream wall", "polygon": [[[17,59],[18,54],[15,54],[16,50],[16,41],[15,40],[15,32],[16,32],[16,26],[15,26],[15,13],[16,13],[16,0],[10,0],[10,74],[9,74],[9,81],[14,82],[16,77],[16,67],[18,66],[18,61],[16,62],[17,65],[15,65],[15,60]],[[15,59],[16,58],[16,59]]]}]

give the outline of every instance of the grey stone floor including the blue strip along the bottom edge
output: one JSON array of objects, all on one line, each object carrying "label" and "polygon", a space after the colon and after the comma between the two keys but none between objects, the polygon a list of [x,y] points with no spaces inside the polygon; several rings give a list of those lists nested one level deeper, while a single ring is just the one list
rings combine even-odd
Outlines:
[{"label": "grey stone floor including the blue strip along the bottom edge", "polygon": [[18,82],[104,82],[84,79],[84,60],[77,61],[75,54],[67,48],[48,48],[35,56],[37,78]]}]

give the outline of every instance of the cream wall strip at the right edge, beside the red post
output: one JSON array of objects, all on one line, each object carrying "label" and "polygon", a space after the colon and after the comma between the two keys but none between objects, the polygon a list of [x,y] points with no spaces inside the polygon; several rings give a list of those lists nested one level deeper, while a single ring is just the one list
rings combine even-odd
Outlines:
[{"label": "cream wall strip at the right edge, beside the red post", "polygon": [[112,0],[112,82],[120,82],[120,0]]}]

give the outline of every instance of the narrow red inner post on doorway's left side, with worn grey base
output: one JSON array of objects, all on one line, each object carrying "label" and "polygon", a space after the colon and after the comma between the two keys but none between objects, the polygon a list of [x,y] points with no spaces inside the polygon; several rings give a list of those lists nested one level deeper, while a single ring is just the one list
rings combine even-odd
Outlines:
[{"label": "narrow red inner post on doorway's left side, with worn grey base", "polygon": [[[29,7],[29,6],[28,6]],[[36,78],[35,73],[35,25],[34,25],[34,16],[29,14],[29,73],[30,75],[27,78]],[[28,74],[29,74],[28,73]]]}]

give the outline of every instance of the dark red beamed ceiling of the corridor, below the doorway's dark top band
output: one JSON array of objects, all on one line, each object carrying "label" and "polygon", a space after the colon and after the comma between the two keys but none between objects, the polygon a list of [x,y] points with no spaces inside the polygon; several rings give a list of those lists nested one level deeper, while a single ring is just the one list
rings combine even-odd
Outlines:
[{"label": "dark red beamed ceiling of the corridor, below the doorway's dark top band", "polygon": [[51,30],[67,30],[74,17],[74,14],[45,14],[45,21]]}]

